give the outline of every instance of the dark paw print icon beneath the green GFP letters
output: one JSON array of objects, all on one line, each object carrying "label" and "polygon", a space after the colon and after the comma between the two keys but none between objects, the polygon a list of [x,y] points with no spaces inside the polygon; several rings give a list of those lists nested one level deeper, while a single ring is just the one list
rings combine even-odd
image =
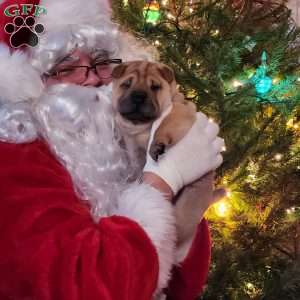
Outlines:
[{"label": "dark paw print icon beneath the green GFP letters", "polygon": [[25,19],[22,16],[17,16],[12,23],[5,25],[4,30],[11,34],[11,46],[19,48],[21,46],[35,47],[39,43],[39,34],[42,34],[45,28],[40,23],[36,24],[32,16]]}]

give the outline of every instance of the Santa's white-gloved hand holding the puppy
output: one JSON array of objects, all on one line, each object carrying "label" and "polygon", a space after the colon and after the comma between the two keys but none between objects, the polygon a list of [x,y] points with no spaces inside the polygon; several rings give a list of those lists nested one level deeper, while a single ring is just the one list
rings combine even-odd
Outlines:
[{"label": "Santa's white-gloved hand holding the puppy", "polygon": [[[149,145],[156,128],[158,126],[155,122]],[[217,137],[218,132],[218,125],[198,112],[197,120],[187,135],[161,156],[158,162],[147,153],[144,172],[155,173],[161,177],[176,194],[185,185],[221,165],[223,158],[220,153],[224,140]]]}]

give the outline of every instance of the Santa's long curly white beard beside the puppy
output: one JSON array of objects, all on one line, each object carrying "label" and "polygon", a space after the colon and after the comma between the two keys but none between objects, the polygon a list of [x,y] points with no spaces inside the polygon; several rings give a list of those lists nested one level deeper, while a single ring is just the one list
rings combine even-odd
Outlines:
[{"label": "Santa's long curly white beard beside the puppy", "polygon": [[114,126],[111,86],[54,85],[34,112],[38,132],[71,174],[80,198],[89,201],[93,216],[110,215],[133,176]]}]

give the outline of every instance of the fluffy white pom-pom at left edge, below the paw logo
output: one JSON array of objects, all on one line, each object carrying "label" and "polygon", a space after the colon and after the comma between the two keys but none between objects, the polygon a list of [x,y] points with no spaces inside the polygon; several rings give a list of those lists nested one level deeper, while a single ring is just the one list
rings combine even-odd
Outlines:
[{"label": "fluffy white pom-pom at left edge, below the paw logo", "polygon": [[18,102],[40,96],[43,83],[39,73],[28,63],[21,51],[10,53],[8,46],[0,43],[0,99]]}]

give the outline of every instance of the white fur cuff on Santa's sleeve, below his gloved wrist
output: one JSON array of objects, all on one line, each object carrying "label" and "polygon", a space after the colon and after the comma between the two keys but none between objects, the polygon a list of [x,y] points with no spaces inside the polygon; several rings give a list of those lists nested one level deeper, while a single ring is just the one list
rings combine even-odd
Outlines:
[{"label": "white fur cuff on Santa's sleeve, below his gloved wrist", "polygon": [[159,259],[159,292],[167,287],[174,264],[176,229],[172,204],[153,187],[135,183],[120,197],[116,213],[136,221],[155,246]]}]

